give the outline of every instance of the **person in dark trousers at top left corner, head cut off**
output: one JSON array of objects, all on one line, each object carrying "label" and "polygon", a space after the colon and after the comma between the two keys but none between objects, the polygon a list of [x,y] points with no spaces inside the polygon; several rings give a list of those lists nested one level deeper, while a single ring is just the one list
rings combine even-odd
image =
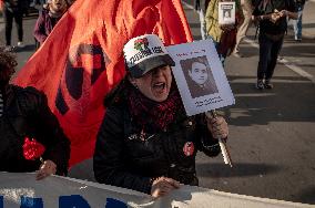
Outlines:
[{"label": "person in dark trousers at top left corner, head cut off", "polygon": [[28,0],[4,0],[3,4],[3,18],[6,23],[6,51],[12,51],[11,45],[11,34],[13,19],[16,21],[18,30],[18,46],[23,48],[23,13],[26,12],[26,6],[28,6]]}]

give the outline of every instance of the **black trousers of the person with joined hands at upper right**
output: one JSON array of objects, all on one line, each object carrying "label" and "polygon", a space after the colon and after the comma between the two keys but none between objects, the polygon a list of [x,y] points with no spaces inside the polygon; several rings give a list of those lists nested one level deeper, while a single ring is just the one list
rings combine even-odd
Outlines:
[{"label": "black trousers of the person with joined hands at upper right", "polygon": [[260,35],[260,62],[257,67],[257,80],[270,80],[273,76],[278,53],[282,49],[281,40],[271,40],[265,34]]}]

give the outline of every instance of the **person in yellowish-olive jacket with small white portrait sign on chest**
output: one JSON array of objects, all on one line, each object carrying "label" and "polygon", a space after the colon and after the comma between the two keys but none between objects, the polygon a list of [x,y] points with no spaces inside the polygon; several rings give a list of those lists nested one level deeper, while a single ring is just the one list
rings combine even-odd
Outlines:
[{"label": "person in yellowish-olive jacket with small white portrait sign on chest", "polygon": [[234,51],[237,28],[243,23],[244,17],[240,0],[235,0],[235,23],[220,25],[219,2],[221,0],[210,1],[205,14],[205,25],[207,39],[214,42],[220,60],[224,65],[225,58]]}]

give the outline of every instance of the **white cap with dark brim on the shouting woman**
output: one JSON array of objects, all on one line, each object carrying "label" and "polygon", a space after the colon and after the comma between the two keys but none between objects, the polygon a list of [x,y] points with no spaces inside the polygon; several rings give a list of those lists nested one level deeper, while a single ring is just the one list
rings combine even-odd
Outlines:
[{"label": "white cap with dark brim on the shouting woman", "polygon": [[162,65],[175,65],[161,39],[144,34],[128,41],[123,48],[126,69],[133,77],[141,77],[150,70]]}]

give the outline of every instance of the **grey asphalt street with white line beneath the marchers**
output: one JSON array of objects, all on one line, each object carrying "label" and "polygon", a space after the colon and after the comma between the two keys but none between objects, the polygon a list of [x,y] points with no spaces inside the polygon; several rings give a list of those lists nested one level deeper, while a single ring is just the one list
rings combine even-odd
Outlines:
[{"label": "grey asphalt street with white line beneath the marchers", "polygon": [[[192,2],[186,0],[186,2]],[[185,1],[195,40],[201,39],[199,14]],[[241,44],[245,58],[227,59],[225,72],[236,98],[224,110],[230,124],[231,168],[222,156],[197,157],[200,186],[221,191],[315,205],[315,2],[304,12],[303,41],[288,30],[274,75],[274,90],[257,91],[258,61],[255,28]],[[27,48],[19,51],[19,69],[33,53],[34,18],[24,20]],[[16,29],[13,29],[13,40]],[[0,41],[4,42],[0,19]],[[16,41],[13,42],[16,43]],[[91,160],[78,165],[71,177],[93,180]]]}]

